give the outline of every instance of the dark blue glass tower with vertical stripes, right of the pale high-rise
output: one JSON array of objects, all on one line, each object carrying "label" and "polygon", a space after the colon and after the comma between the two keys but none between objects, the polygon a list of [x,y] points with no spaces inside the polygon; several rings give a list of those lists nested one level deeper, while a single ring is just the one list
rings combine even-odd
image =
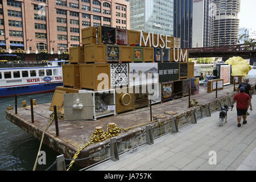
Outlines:
[{"label": "dark blue glass tower with vertical stripes, right of the pale high-rise", "polygon": [[192,47],[193,0],[174,0],[174,36],[180,48]]}]

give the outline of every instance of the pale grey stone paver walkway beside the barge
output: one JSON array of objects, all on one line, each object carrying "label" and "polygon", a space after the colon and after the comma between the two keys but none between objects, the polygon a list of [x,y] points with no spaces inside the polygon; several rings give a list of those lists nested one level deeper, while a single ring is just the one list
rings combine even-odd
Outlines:
[{"label": "pale grey stone paver walkway beside the barge", "polygon": [[[250,111],[246,125],[237,127],[234,107],[228,112],[228,123],[219,127],[217,111],[212,117],[181,128],[177,134],[166,134],[152,145],[145,144],[120,155],[117,162],[108,160],[88,170],[255,170],[256,96],[253,97],[254,110]],[[209,164],[210,151],[216,152],[217,164]]]}]

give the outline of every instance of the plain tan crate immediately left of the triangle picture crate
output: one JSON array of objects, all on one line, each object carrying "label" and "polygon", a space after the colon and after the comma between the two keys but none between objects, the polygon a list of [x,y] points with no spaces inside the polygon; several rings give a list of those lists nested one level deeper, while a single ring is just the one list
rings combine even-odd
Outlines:
[{"label": "plain tan crate immediately left of the triangle picture crate", "polygon": [[106,45],[90,44],[84,46],[85,63],[106,63]]}]

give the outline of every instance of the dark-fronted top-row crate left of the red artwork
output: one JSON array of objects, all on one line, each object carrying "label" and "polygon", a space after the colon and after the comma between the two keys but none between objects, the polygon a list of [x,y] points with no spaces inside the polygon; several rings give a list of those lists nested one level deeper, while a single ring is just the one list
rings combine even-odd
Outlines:
[{"label": "dark-fronted top-row crate left of the red artwork", "polygon": [[115,44],[116,42],[116,32],[113,27],[98,27],[98,44]]}]

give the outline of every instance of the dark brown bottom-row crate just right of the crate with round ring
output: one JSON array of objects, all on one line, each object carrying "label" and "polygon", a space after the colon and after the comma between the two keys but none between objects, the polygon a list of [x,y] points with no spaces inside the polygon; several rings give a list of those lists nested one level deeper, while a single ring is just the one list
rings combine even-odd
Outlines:
[{"label": "dark brown bottom-row crate just right of the crate with round ring", "polygon": [[147,85],[134,86],[134,109],[148,106]]}]

